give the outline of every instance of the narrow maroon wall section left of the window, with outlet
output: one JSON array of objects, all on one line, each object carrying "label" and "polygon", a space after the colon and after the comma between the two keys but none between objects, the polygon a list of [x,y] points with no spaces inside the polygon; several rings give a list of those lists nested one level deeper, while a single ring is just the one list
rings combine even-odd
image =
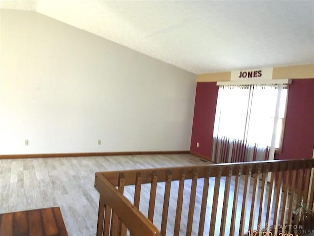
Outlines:
[{"label": "narrow maroon wall section left of the window, with outlet", "polygon": [[[211,159],[218,86],[216,82],[198,82],[196,86],[191,151]],[[196,147],[196,143],[199,147]]]}]

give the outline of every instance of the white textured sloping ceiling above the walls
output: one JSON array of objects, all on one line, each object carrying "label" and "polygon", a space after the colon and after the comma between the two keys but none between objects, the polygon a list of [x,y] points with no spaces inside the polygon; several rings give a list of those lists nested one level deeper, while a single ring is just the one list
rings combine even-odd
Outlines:
[{"label": "white textured sloping ceiling above the walls", "polygon": [[314,1],[3,1],[195,74],[314,64]]}]

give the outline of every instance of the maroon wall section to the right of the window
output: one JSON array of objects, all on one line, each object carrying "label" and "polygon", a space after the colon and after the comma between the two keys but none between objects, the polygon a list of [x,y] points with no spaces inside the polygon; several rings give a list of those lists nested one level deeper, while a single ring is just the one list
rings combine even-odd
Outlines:
[{"label": "maroon wall section to the right of the window", "polygon": [[314,145],[314,79],[292,80],[281,154],[275,159],[311,159]]}]

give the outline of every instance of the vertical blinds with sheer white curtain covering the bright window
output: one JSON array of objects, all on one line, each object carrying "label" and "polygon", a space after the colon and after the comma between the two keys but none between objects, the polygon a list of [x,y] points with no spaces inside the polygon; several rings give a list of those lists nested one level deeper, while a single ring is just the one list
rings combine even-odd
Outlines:
[{"label": "vertical blinds with sheer white curtain covering the bright window", "polygon": [[280,146],[286,99],[286,85],[219,87],[213,161],[273,159]]}]

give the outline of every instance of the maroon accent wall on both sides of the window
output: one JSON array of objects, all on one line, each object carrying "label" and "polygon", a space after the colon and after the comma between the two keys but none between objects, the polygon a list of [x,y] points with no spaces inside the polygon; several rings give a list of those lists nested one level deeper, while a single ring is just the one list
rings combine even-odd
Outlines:
[{"label": "maroon accent wall on both sides of the window", "polygon": [[[209,160],[217,96],[216,82],[197,83],[190,150]],[[314,79],[293,80],[288,93],[282,152],[276,153],[275,159],[311,159],[313,145]]]}]

